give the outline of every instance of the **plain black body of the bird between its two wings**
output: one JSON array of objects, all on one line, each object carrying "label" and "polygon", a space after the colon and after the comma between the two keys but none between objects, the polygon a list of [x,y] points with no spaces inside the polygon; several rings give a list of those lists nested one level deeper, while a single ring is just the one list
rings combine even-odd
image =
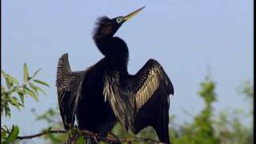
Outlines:
[{"label": "plain black body of the bird between its two wings", "polygon": [[77,112],[79,129],[90,130],[102,136],[105,136],[117,122],[110,103],[104,102],[103,97],[106,64],[106,58],[102,58],[86,71]]}]

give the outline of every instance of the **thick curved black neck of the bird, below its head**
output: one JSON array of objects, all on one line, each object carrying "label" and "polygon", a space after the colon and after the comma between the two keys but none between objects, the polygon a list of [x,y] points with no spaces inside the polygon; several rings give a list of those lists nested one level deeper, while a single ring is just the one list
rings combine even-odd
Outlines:
[{"label": "thick curved black neck of the bird, below its head", "polygon": [[94,38],[94,42],[98,50],[109,59],[114,69],[127,70],[129,51],[126,42],[113,36]]}]

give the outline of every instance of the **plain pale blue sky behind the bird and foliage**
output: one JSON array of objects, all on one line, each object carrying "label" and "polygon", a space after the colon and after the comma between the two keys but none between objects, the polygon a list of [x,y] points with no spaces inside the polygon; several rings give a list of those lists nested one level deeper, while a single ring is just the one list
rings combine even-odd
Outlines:
[{"label": "plain pale blue sky behind the bird and foliage", "polygon": [[[84,70],[102,58],[92,40],[95,20],[114,18],[146,6],[126,22],[116,36],[130,50],[129,72],[136,73],[149,58],[158,60],[174,83],[170,113],[179,122],[183,113],[197,114],[203,102],[199,83],[209,73],[217,82],[214,109],[248,108],[238,87],[253,82],[253,1],[2,1],[2,69],[22,80],[22,65],[50,83],[39,102],[26,99],[26,109],[13,111],[6,122],[22,126],[22,134],[46,126],[30,113],[56,106],[55,76],[58,58],[68,53],[72,70]],[[27,126],[31,126],[29,129]]]}]

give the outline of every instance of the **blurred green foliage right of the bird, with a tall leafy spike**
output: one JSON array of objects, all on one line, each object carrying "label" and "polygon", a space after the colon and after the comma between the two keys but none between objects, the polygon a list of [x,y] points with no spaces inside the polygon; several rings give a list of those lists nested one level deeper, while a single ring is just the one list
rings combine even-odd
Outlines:
[{"label": "blurred green foliage right of the bird, with a tall leafy spike", "polygon": [[[194,116],[193,122],[173,127],[170,130],[171,142],[174,144],[252,144],[254,135],[252,126],[246,127],[242,124],[241,117],[245,119],[242,110],[233,110],[232,113],[222,110],[220,114],[214,114],[212,103],[217,101],[214,93],[215,83],[210,78],[206,78],[201,83],[201,87],[198,94],[205,102],[204,109]],[[249,82],[242,86],[242,94],[253,99],[254,90]],[[250,118],[252,118],[252,113]]]}]

